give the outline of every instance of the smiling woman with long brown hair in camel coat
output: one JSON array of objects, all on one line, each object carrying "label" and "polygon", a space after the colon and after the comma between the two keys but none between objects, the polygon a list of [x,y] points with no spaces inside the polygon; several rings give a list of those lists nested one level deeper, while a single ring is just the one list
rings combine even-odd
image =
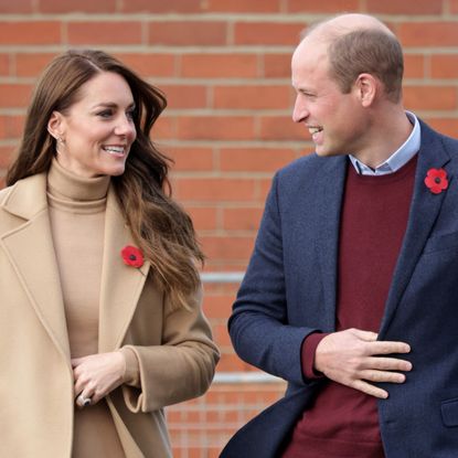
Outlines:
[{"label": "smiling woman with long brown hair in camel coat", "polygon": [[219,359],[203,255],[149,134],[162,94],[100,51],[45,70],[0,192],[0,456],[170,457]]}]

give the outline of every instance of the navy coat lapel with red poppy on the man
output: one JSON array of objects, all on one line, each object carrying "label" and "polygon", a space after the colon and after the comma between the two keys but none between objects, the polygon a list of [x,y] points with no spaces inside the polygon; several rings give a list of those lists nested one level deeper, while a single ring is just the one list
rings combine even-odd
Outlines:
[{"label": "navy coat lapel with red poppy on the man", "polygon": [[[424,180],[429,169],[440,169],[450,160],[440,139],[426,125],[422,124],[422,147],[415,174],[414,194],[408,223],[401,253],[394,270],[393,280],[382,320],[380,339],[386,333],[397,305],[411,280],[415,266],[430,236],[434,223],[439,214],[446,191],[433,194]],[[448,175],[450,181],[452,177]]]}]

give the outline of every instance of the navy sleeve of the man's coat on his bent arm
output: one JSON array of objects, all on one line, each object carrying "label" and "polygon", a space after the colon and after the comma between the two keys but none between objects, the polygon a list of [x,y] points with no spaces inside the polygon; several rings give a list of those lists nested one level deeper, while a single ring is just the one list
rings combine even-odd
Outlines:
[{"label": "navy sleeve of the man's coat on his bent arm", "polygon": [[228,329],[244,361],[288,382],[305,384],[301,344],[316,330],[288,321],[283,243],[277,174]]}]

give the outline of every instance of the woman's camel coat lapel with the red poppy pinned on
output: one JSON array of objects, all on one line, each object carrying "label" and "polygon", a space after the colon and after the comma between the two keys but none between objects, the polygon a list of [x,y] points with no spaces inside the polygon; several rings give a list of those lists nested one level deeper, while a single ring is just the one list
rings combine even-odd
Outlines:
[{"label": "woman's camel coat lapel with the red poppy pinned on", "polygon": [[123,262],[121,249],[136,246],[117,202],[113,187],[108,191],[105,216],[105,243],[100,284],[99,352],[118,349],[134,317],[149,263],[138,269]]}]

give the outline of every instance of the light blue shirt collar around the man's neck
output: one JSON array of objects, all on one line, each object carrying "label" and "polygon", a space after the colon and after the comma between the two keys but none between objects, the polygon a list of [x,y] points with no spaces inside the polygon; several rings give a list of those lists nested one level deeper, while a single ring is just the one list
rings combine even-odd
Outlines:
[{"label": "light blue shirt collar around the man's neck", "polygon": [[403,166],[405,166],[418,152],[422,137],[419,123],[413,113],[406,111],[406,115],[408,120],[413,124],[414,128],[412,129],[407,140],[405,140],[404,143],[392,156],[390,156],[385,162],[381,163],[375,169],[371,169],[358,160],[355,157],[349,155],[351,163],[356,169],[359,174],[384,175],[394,173]]}]

